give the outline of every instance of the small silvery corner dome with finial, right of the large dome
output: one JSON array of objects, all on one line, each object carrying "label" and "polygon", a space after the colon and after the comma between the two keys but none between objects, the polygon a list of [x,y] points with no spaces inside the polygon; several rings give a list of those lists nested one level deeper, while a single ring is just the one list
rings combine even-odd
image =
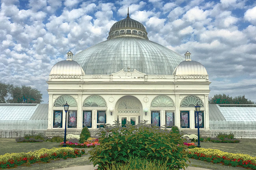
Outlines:
[{"label": "small silvery corner dome with finial, right of the large dome", "polygon": [[187,51],[184,55],[185,61],[180,62],[174,69],[173,75],[208,75],[205,67],[201,63],[191,61],[191,53]]}]

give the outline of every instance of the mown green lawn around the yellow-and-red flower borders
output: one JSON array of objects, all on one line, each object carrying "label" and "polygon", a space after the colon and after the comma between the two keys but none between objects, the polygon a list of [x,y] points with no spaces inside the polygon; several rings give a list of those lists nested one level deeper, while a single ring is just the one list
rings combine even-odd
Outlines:
[{"label": "mown green lawn around the yellow-and-red flower borders", "polygon": [[[196,143],[197,144],[197,143]],[[228,143],[212,143],[212,142],[201,142],[202,148],[212,148],[219,149],[224,152],[231,153],[245,153],[251,156],[256,156],[256,139],[241,139],[241,142],[235,144]],[[0,155],[5,153],[13,152],[30,152],[39,150],[41,148],[53,148],[59,147],[59,143],[54,142],[39,142],[39,143],[17,143],[15,139],[4,139],[0,140]],[[86,153],[91,150],[91,148],[85,148]],[[56,161],[51,161],[50,163],[37,163],[32,164],[31,166],[19,166],[15,168],[17,170],[41,170],[41,169],[57,169],[57,168],[66,168],[71,166],[82,166],[89,163],[89,155],[83,155],[80,158],[67,160],[59,159]],[[195,159],[189,159],[191,163],[188,163],[189,166],[208,168],[212,170],[245,170],[245,168],[224,166],[222,164],[213,164],[206,161],[199,161]]]}]

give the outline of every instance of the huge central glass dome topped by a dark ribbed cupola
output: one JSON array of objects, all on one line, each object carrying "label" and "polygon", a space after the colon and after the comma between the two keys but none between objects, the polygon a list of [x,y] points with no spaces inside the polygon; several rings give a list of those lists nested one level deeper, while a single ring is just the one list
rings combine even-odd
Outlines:
[{"label": "huge central glass dome topped by a dark ribbed cupola", "polygon": [[74,55],[85,74],[112,74],[135,68],[153,75],[172,74],[184,57],[148,40],[143,24],[129,17],[113,24],[107,41]]}]

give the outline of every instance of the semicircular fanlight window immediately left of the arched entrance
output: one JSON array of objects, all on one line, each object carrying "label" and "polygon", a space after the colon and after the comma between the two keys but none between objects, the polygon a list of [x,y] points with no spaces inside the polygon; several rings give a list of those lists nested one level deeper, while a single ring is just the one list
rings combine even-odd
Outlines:
[{"label": "semicircular fanlight window immediately left of the arched entrance", "polygon": [[101,96],[92,95],[84,100],[83,107],[107,107],[107,103]]}]

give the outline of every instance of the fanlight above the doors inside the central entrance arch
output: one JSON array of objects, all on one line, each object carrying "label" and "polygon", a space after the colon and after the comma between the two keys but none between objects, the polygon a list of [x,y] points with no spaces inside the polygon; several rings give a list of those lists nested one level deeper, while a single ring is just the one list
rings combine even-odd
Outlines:
[{"label": "fanlight above the doors inside the central entrance arch", "polygon": [[140,107],[137,101],[124,99],[117,106],[117,113],[139,113]]}]

